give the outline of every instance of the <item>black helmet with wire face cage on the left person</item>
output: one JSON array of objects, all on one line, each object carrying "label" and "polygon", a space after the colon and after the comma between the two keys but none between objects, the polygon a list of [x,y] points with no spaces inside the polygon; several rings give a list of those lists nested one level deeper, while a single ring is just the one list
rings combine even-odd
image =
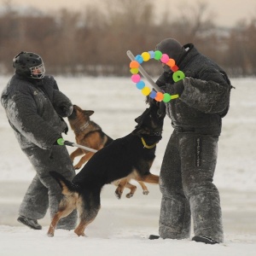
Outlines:
[{"label": "black helmet with wire face cage on the left person", "polygon": [[13,59],[16,73],[32,79],[44,79],[45,68],[42,58],[32,52],[21,51]]}]

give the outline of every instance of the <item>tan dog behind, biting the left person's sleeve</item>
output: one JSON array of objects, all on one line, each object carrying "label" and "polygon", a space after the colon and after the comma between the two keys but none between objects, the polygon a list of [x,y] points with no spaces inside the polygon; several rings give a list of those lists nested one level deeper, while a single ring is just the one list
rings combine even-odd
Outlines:
[{"label": "tan dog behind, biting the left person's sleeve", "polygon": [[[113,142],[113,139],[109,137],[102,128],[90,119],[90,116],[94,113],[93,110],[84,110],[77,105],[73,105],[73,113],[68,117],[68,122],[75,134],[75,140],[79,145],[87,148],[93,148],[100,150],[109,143]],[[83,155],[84,154],[84,155]],[[70,154],[70,158],[73,161],[76,157],[83,155],[78,164],[74,166],[76,170],[80,169],[84,163],[92,157],[94,153],[85,149],[77,148]],[[119,183],[125,183],[122,180],[113,181],[113,185],[118,186]],[[138,181],[143,189],[143,195],[148,195],[149,191],[147,186]],[[131,198],[137,190],[137,186],[127,182],[125,188],[130,189],[130,192],[126,194],[127,198]],[[116,194],[117,195],[117,194]],[[117,197],[120,199],[120,194]]]}]

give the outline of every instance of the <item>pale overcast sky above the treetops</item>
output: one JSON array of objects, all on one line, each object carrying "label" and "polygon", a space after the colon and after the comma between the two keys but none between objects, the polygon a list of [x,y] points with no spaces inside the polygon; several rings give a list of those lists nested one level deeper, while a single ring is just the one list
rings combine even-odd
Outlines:
[{"label": "pale overcast sky above the treetops", "polygon": [[[0,4],[11,1],[16,6],[31,5],[42,10],[53,9],[83,9],[85,3],[108,3],[108,0],[0,0]],[[122,1],[122,0],[119,0]],[[138,0],[134,0],[134,8]],[[147,1],[147,0],[143,0]],[[200,1],[200,0],[199,0]],[[170,15],[178,12],[182,4],[199,2],[197,0],[154,0],[156,10],[161,12],[164,9],[170,9]],[[241,19],[250,19],[256,17],[255,0],[201,0],[201,3],[207,3],[208,12],[211,12],[216,24],[219,26],[235,26],[236,22]],[[100,4],[99,4],[100,6]]]}]

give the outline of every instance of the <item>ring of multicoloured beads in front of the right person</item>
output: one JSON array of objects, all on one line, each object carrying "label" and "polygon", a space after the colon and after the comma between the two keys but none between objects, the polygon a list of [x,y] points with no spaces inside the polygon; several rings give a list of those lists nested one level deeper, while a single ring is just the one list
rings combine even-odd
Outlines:
[{"label": "ring of multicoloured beads in front of the right person", "polygon": [[137,89],[142,90],[144,96],[149,96],[157,102],[170,102],[173,99],[177,99],[178,95],[170,95],[168,93],[163,93],[160,91],[150,90],[148,86],[145,85],[143,80],[141,80],[141,76],[139,73],[139,67],[143,63],[143,61],[149,61],[150,59],[154,59],[156,61],[161,61],[170,67],[172,70],[172,79],[174,82],[182,80],[185,78],[185,74],[179,70],[177,67],[175,60],[169,58],[168,55],[162,54],[160,50],[150,50],[148,52],[143,52],[141,55],[137,55],[134,61],[130,62],[130,71],[131,71],[131,81],[136,84]]}]

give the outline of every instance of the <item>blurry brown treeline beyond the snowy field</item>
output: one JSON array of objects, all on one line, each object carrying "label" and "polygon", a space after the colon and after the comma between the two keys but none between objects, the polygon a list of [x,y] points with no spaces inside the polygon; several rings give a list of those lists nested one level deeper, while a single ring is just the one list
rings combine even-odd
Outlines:
[{"label": "blurry brown treeline beyond the snowy field", "polygon": [[[171,10],[155,14],[150,1],[134,3],[102,1],[101,8],[90,4],[79,12],[60,9],[46,14],[38,9],[21,13],[5,1],[0,14],[0,73],[13,73],[12,58],[26,50],[43,57],[47,73],[126,76],[128,49],[137,55],[154,50],[164,38],[176,38],[195,44],[230,76],[256,75],[256,17],[221,29],[203,3],[187,6],[175,19]],[[151,75],[159,73],[153,66],[147,67]]]}]

